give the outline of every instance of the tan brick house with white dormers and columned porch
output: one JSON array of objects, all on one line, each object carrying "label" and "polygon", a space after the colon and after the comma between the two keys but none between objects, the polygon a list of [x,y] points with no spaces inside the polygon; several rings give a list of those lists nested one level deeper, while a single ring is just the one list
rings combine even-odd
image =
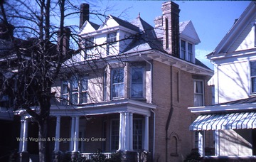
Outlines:
[{"label": "tan brick house with white dormers and columned porch", "polygon": [[[99,26],[81,5],[83,50],[65,62],[52,88],[55,160],[66,152],[90,158],[100,148],[106,156],[122,151],[127,161],[143,151],[154,161],[183,161],[197,146],[188,130],[196,115],[187,107],[211,104],[213,71],[195,58],[200,40],[191,21],[179,23],[178,5],[168,1],[162,10],[155,28],[140,16],[127,22],[110,15]],[[17,114],[26,138],[29,116]],[[21,141],[20,151],[31,142]]]}]

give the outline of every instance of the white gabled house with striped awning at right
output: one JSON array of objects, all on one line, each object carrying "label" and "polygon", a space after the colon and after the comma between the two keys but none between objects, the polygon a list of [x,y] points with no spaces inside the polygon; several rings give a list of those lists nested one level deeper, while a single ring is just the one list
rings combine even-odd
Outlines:
[{"label": "white gabled house with striped awning at right", "polygon": [[[190,126],[199,132],[199,151],[209,161],[256,159],[256,5],[252,1],[215,48],[207,55],[215,74],[215,104],[190,107],[201,114]],[[214,134],[209,139],[206,134]],[[214,142],[214,156],[207,148]],[[238,160],[240,159],[240,160]],[[254,160],[253,160],[254,159]],[[231,161],[231,160],[230,160]]]}]

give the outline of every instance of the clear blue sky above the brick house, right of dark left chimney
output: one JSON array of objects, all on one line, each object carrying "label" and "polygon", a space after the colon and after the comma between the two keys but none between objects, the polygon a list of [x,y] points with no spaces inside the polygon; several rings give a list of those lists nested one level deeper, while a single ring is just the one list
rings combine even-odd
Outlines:
[{"label": "clear blue sky above the brick house, right of dark left chimney", "polygon": [[[105,14],[120,16],[126,21],[132,21],[140,16],[144,21],[154,26],[154,18],[161,16],[161,4],[164,1],[90,1],[91,9],[110,7]],[[201,43],[196,45],[196,58],[213,68],[205,58],[220,43],[230,30],[250,1],[174,1],[181,9],[180,21],[191,20],[196,28]],[[95,5],[95,6],[94,6]],[[99,10],[98,10],[99,11]],[[100,12],[100,11],[99,11]],[[94,21],[91,19],[90,21]]]}]

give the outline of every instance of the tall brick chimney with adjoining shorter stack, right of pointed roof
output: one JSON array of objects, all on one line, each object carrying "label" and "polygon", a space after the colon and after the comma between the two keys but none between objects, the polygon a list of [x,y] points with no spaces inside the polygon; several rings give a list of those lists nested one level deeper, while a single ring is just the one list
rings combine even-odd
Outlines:
[{"label": "tall brick chimney with adjoining shorter stack, right of pointed roof", "polygon": [[178,4],[166,1],[162,4],[162,16],[155,18],[156,36],[170,55],[179,57],[179,12]]}]

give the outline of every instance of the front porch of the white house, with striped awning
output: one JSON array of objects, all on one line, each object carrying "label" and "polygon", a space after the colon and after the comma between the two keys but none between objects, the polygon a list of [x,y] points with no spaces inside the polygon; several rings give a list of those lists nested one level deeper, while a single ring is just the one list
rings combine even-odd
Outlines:
[{"label": "front porch of the white house, with striped awning", "polygon": [[[191,112],[200,113],[189,129],[198,133],[198,152],[204,161],[255,161],[255,104],[237,102],[189,108]],[[210,155],[206,152],[209,132],[213,133],[215,148]]]}]

